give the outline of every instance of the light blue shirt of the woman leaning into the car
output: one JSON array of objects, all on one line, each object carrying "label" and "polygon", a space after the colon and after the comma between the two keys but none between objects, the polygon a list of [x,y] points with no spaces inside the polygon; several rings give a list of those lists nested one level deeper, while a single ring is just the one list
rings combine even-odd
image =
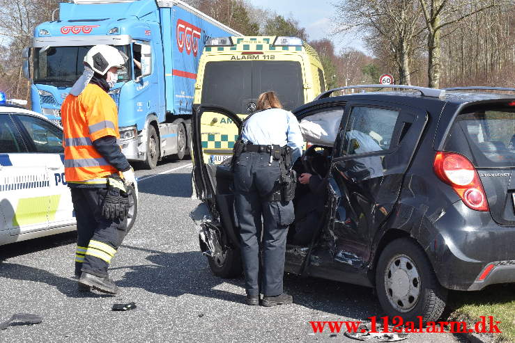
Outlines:
[{"label": "light blue shirt of the woman leaning into the car", "polygon": [[299,122],[293,113],[284,109],[268,109],[254,113],[245,121],[241,137],[245,143],[256,145],[289,145],[293,161],[302,155],[304,138],[300,132]]}]

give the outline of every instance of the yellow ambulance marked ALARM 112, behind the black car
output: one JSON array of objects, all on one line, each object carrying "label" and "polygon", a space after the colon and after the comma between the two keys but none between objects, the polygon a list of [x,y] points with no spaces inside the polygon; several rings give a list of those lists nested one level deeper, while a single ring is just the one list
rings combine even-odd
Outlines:
[{"label": "yellow ambulance marked ALARM 112, behind the black car", "polygon": [[[194,104],[223,107],[243,119],[256,111],[257,98],[269,90],[277,93],[288,111],[325,92],[316,51],[295,37],[224,37],[206,42]],[[205,163],[220,164],[231,157],[238,127],[230,118],[203,113],[198,131]]]}]

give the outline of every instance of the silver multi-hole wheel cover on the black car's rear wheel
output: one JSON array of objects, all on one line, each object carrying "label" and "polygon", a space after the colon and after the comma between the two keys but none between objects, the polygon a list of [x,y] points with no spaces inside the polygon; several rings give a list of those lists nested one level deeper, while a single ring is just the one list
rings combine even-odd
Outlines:
[{"label": "silver multi-hole wheel cover on the black car's rear wheel", "polygon": [[420,276],[415,262],[399,254],[388,262],[385,269],[386,296],[399,312],[408,312],[420,298]]}]

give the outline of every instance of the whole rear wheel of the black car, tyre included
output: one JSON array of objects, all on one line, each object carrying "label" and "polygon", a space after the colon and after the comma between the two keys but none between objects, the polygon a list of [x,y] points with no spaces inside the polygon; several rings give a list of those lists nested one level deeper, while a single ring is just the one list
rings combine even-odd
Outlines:
[{"label": "whole rear wheel of the black car, tyre included", "polygon": [[424,250],[408,238],[388,244],[379,257],[376,291],[388,316],[406,321],[437,321],[445,308],[447,289],[433,271]]}]

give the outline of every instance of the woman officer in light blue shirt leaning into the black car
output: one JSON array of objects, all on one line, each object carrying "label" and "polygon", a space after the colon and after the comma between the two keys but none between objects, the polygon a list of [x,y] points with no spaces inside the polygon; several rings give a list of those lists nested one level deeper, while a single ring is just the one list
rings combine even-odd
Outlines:
[{"label": "woman officer in light blue shirt leaning into the black car", "polygon": [[266,92],[259,96],[256,113],[245,120],[241,141],[233,166],[247,304],[259,305],[260,293],[263,306],[289,304],[293,298],[283,292],[284,254],[294,218],[291,165],[302,152],[300,127],[277,95]]}]

